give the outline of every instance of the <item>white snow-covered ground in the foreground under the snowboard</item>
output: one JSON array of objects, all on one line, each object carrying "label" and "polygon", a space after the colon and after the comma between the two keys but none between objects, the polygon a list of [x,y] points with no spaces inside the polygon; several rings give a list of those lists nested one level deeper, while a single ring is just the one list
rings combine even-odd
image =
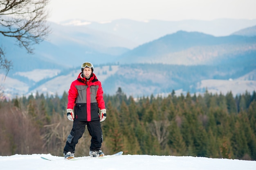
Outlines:
[{"label": "white snow-covered ground in the foreground under the snowboard", "polygon": [[[61,159],[47,161],[40,157]],[[51,154],[0,156],[1,170],[255,170],[256,161],[190,156],[121,155],[106,159],[67,161]]]}]

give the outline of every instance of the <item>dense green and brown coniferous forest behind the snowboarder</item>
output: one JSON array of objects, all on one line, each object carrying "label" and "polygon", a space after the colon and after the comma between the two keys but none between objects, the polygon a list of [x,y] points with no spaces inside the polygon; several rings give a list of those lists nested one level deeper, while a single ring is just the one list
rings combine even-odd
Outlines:
[{"label": "dense green and brown coniferous forest behind the snowboarder", "polygon": [[[105,154],[196,156],[256,160],[256,92],[132,98],[121,88],[104,96],[101,123]],[[45,153],[63,156],[72,122],[67,93],[0,101],[0,155]],[[75,156],[88,156],[87,130]]]}]

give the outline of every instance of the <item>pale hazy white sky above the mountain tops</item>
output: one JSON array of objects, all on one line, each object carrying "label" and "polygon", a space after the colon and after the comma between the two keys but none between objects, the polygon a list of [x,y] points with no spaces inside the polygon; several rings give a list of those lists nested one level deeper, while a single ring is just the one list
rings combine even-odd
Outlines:
[{"label": "pale hazy white sky above the mountain tops", "polygon": [[49,21],[256,19],[256,0],[51,0]]}]

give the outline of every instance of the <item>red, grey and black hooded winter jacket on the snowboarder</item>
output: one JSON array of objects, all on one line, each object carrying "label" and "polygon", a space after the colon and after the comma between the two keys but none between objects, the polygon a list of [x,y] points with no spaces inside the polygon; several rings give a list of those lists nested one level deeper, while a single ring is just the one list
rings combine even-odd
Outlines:
[{"label": "red, grey and black hooded winter jacket on the snowboarder", "polygon": [[67,109],[74,108],[74,120],[99,120],[99,109],[105,109],[103,89],[94,73],[89,81],[82,77],[82,72],[70,85]]}]

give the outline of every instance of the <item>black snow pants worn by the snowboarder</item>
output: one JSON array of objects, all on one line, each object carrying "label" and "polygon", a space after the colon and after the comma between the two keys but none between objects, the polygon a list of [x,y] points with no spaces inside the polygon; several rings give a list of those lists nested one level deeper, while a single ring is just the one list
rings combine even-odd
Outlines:
[{"label": "black snow pants worn by the snowboarder", "polygon": [[92,137],[90,150],[100,150],[101,143],[103,142],[100,121],[74,121],[73,128],[70,134],[67,136],[67,142],[64,147],[64,153],[75,152],[76,144],[85,132],[85,125],[87,125],[88,132]]}]

